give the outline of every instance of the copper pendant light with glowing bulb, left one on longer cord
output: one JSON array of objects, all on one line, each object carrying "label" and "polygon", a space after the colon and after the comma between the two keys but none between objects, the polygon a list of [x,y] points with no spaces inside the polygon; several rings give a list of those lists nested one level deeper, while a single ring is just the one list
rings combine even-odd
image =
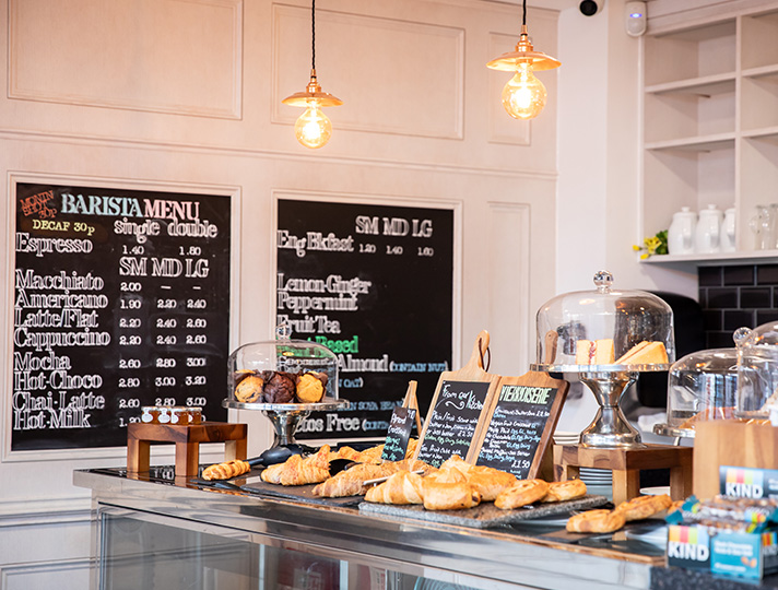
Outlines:
[{"label": "copper pendant light with glowing bulb, left one on longer cord", "polygon": [[321,92],[321,86],[316,79],[316,0],[310,2],[310,82],[305,91],[296,92],[281,102],[305,108],[305,113],[294,123],[294,134],[303,145],[315,150],[330,141],[332,122],[321,108],[340,106],[343,101]]}]

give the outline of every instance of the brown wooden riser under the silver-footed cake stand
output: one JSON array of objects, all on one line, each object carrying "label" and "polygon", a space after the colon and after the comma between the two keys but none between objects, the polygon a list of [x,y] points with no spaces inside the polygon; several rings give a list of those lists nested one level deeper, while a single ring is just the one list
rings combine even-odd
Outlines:
[{"label": "brown wooden riser under the silver-footed cake stand", "polygon": [[646,445],[638,448],[597,448],[580,445],[554,446],[554,479],[571,480],[579,468],[613,471],[613,504],[640,495],[640,471],[670,469],[670,497],[692,495],[692,453],[689,447]]}]

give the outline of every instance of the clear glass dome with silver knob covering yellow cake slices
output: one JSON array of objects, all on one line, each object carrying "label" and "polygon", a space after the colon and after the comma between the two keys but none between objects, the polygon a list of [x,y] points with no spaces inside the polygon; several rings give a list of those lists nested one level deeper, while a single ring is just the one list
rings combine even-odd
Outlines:
[{"label": "clear glass dome with silver knob covering yellow cake slices", "polygon": [[667,370],[675,361],[673,312],[645,291],[613,288],[608,271],[594,291],[565,293],[538,310],[538,364],[551,370]]}]

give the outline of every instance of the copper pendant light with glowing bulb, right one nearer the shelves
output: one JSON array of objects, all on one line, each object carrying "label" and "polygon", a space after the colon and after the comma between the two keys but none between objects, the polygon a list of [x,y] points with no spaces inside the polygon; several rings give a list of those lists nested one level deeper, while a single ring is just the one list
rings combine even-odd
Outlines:
[{"label": "copper pendant light with glowing bulb, right one nearer the shelves", "polygon": [[541,51],[535,51],[527,34],[527,0],[523,0],[521,36],[516,49],[490,61],[493,70],[516,72],[503,88],[503,106],[515,119],[533,119],[545,106],[545,86],[534,71],[552,70],[562,63]]}]

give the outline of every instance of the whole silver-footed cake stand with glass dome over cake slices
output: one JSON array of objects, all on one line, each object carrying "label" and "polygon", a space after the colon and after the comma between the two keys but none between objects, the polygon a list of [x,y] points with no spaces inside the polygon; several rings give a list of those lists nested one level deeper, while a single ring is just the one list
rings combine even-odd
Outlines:
[{"label": "whole silver-footed cake stand with glass dome over cake slices", "polygon": [[651,293],[613,288],[608,271],[594,274],[594,285],[540,308],[532,369],[576,374],[592,391],[600,408],[581,433],[582,445],[641,446],[618,402],[639,373],[668,370],[675,361],[673,312]]}]

